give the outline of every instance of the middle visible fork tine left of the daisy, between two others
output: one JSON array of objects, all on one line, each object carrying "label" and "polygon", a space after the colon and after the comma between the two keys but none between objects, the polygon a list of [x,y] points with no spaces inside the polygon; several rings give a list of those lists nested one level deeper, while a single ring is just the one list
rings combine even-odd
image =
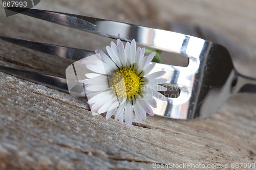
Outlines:
[{"label": "middle visible fork tine left of the daisy, between two others", "polygon": [[66,58],[72,61],[77,61],[89,55],[95,54],[95,52],[81,50],[78,48],[71,48],[66,46],[53,45],[53,44],[47,44],[47,43],[35,42],[35,41],[28,41],[24,39],[17,39],[17,38],[4,37],[4,36],[0,36],[0,39],[19,45],[19,46],[30,48],[32,50]]}]

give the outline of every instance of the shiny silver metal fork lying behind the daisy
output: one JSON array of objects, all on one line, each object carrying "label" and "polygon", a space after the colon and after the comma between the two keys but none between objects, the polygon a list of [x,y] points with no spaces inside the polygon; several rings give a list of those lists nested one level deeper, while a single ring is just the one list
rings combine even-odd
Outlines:
[{"label": "shiny silver metal fork lying behind the daisy", "polygon": [[[241,75],[222,45],[180,33],[104,20],[87,16],[39,9],[8,7],[9,10],[104,37],[131,41],[138,45],[188,58],[186,67],[156,63],[153,71],[165,70],[167,102],[157,100],[155,115],[176,119],[205,118],[215,113],[233,94],[256,92],[256,79]],[[33,42],[11,37],[0,39],[73,62],[95,54],[91,51]],[[75,68],[74,68],[75,69]],[[81,87],[68,87],[65,77],[0,65],[0,71],[37,84],[78,95]],[[76,72],[76,71],[74,71]],[[74,75],[75,77],[76,75]],[[177,95],[178,91],[178,95]],[[174,95],[175,94],[175,95]]]}]

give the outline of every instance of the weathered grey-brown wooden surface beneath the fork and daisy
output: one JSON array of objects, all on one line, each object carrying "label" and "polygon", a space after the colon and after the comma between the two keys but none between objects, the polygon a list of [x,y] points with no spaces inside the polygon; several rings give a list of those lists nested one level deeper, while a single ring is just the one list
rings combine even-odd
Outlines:
[{"label": "weathered grey-brown wooden surface beneath the fork and daisy", "polygon": [[[228,48],[240,72],[255,77],[254,0],[141,3],[45,0],[36,8],[214,40]],[[0,35],[88,50],[104,49],[110,42],[23,15],[7,18],[0,9]],[[0,41],[0,64],[64,75],[70,63]],[[143,124],[126,127],[113,119],[106,121],[104,116],[92,116],[83,98],[3,72],[0,78],[0,169],[152,169],[154,162],[222,167],[232,162],[256,163],[256,95],[234,95],[207,119],[147,116]]]}]

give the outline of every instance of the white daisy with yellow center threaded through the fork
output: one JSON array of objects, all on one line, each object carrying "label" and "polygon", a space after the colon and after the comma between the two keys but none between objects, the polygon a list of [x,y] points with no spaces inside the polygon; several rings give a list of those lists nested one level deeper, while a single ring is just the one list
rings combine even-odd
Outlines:
[{"label": "white daisy with yellow center threaded through the fork", "polygon": [[155,63],[151,63],[155,52],[144,57],[145,48],[138,47],[136,42],[124,44],[118,39],[111,46],[106,46],[106,55],[96,50],[96,58],[84,60],[83,64],[91,71],[82,80],[88,103],[92,112],[106,112],[106,119],[115,115],[115,120],[132,125],[133,110],[138,122],[146,119],[146,113],[154,115],[151,107],[156,108],[155,99],[166,101],[166,97],[158,91],[167,90],[158,84],[167,80],[159,78],[165,71],[149,74]]}]

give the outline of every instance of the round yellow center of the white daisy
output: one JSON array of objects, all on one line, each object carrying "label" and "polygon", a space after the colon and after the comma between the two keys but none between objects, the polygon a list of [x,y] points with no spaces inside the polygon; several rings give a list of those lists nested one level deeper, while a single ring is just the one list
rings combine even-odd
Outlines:
[{"label": "round yellow center of the white daisy", "polygon": [[131,99],[140,92],[140,77],[131,67],[124,67],[114,72],[110,85],[119,98]]}]

